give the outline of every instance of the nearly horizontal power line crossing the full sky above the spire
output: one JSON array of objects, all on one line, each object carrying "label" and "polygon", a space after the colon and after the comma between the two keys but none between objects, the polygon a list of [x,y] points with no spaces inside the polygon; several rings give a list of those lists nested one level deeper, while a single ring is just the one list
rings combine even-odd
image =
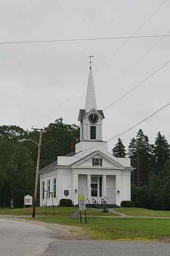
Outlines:
[{"label": "nearly horizontal power line crossing the full sky above the spire", "polygon": [[144,36],[96,37],[96,38],[75,38],[75,39],[54,39],[54,40],[29,40],[29,41],[0,42],[0,44],[5,45],[5,44],[74,42],[74,41],[89,41],[89,40],[138,39],[138,38],[153,38],[153,37],[169,37],[169,35],[148,35],[148,36],[144,35]]}]

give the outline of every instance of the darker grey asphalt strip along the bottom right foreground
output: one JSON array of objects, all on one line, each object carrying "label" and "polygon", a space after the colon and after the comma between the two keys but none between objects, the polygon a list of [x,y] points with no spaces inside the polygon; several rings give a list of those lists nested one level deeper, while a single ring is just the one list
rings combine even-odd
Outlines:
[{"label": "darker grey asphalt strip along the bottom right foreground", "polygon": [[170,245],[111,241],[58,240],[43,256],[169,256]]}]

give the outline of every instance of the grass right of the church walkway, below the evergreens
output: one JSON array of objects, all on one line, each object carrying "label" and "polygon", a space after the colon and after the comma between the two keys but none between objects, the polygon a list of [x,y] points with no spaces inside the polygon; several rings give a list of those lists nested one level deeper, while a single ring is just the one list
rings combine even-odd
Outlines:
[{"label": "grass right of the church walkway, below the evergreens", "polygon": [[170,211],[156,211],[156,210],[149,210],[143,208],[114,208],[117,212],[123,212],[130,216],[142,216],[142,217],[170,217]]}]

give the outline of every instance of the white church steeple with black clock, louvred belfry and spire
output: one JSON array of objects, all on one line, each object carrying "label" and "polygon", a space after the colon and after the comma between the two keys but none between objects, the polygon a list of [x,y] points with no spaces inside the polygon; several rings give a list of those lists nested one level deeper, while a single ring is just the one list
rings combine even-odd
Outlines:
[{"label": "white church steeple with black clock, louvred belfry and spire", "polygon": [[80,121],[80,142],[102,142],[102,120],[104,118],[103,111],[97,110],[90,62],[85,109],[80,109],[78,117],[78,121]]}]

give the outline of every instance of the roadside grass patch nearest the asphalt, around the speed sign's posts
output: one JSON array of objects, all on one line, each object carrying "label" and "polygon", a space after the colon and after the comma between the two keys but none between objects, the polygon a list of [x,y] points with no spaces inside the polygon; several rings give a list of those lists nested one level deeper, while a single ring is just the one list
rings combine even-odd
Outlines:
[{"label": "roadside grass patch nearest the asphalt, around the speed sign's posts", "polygon": [[80,224],[80,220],[61,216],[36,217],[35,220],[80,226],[94,240],[155,241],[170,237],[169,219],[89,217],[87,224],[84,218]]}]

